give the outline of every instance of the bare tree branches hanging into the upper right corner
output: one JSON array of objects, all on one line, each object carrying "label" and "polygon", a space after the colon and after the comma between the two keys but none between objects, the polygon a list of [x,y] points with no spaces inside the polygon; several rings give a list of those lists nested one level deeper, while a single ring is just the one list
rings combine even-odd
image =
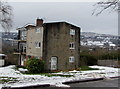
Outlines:
[{"label": "bare tree branches hanging into the upper right corner", "polygon": [[94,4],[96,8],[93,10],[92,15],[99,15],[104,10],[110,9],[110,11],[120,11],[119,0],[103,0]]}]

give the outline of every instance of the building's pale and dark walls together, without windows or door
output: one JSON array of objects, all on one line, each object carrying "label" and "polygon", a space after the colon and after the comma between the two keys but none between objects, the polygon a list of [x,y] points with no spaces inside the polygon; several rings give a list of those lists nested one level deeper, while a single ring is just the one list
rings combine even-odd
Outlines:
[{"label": "building's pale and dark walls together, without windows or door", "polygon": [[[38,21],[37,21],[38,22]],[[36,29],[40,28],[40,32]],[[51,57],[57,57],[57,70],[73,70],[80,66],[80,28],[66,22],[45,23],[37,26],[28,26],[26,40],[26,56],[43,58],[47,70],[51,67]],[[75,35],[70,35],[70,29],[75,30]],[[19,36],[20,38],[20,36]],[[36,48],[35,42],[41,42],[41,47]],[[75,49],[70,49],[70,42],[75,43]],[[75,61],[69,62],[69,57],[74,56]],[[21,56],[20,56],[21,58]]]}]

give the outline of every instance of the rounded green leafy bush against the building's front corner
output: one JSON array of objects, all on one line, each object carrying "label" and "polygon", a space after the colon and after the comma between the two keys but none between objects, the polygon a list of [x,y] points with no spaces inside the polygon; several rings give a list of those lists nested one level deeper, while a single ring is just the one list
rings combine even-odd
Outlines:
[{"label": "rounded green leafy bush against the building's front corner", "polygon": [[42,73],[44,72],[44,61],[31,58],[26,61],[26,68],[29,73]]}]

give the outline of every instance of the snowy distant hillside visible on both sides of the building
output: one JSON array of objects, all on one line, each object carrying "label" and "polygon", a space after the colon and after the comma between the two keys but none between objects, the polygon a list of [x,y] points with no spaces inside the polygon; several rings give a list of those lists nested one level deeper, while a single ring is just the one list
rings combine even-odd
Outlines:
[{"label": "snowy distant hillside visible on both sides of the building", "polygon": [[[17,37],[18,37],[18,33],[16,32],[2,33],[2,40],[4,40],[9,44],[10,44],[9,41],[17,39]],[[119,46],[119,44],[120,44],[120,39],[118,36],[109,35],[109,34],[98,34],[93,32],[81,32],[82,46],[116,48],[117,46]]]}]

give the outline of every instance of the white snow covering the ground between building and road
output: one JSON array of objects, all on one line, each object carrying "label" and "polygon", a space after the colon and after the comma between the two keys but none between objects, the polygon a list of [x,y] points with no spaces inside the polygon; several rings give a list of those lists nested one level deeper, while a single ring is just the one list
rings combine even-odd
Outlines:
[{"label": "white snow covering the ground between building and road", "polygon": [[[50,84],[57,87],[69,87],[68,85],[62,84],[66,81],[74,81],[80,79],[89,79],[89,78],[109,78],[115,77],[118,75],[118,68],[112,67],[103,67],[103,66],[90,66],[91,68],[99,68],[99,70],[90,70],[90,71],[69,71],[69,72],[59,72],[52,73],[58,75],[73,75],[72,77],[60,77],[60,76],[44,76],[44,75],[26,75],[22,74],[20,71],[23,69],[15,70],[15,66],[7,66],[0,68],[0,79],[13,78],[13,82],[7,82],[0,84],[0,89],[3,86],[11,87],[24,87],[32,85],[43,85]],[[26,71],[26,70],[25,70]]]}]

